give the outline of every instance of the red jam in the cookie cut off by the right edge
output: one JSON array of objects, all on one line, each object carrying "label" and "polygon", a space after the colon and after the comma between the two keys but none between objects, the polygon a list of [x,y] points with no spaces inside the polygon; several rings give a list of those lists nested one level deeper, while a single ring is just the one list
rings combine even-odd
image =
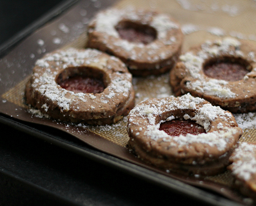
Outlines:
[{"label": "red jam in the cookie cut off by the right edge", "polygon": [[218,62],[204,67],[204,73],[208,77],[226,81],[238,81],[244,78],[248,70],[241,63]]}]

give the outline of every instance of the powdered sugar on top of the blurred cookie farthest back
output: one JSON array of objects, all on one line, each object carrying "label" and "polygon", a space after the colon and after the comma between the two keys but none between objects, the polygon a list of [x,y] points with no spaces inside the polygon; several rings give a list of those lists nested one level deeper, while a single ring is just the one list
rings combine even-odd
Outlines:
[{"label": "powdered sugar on top of the blurred cookie farthest back", "polygon": [[[156,43],[155,40],[148,44],[143,44],[120,38],[115,27],[119,22],[122,22],[122,20],[140,22],[142,25],[153,27],[157,33],[156,39],[160,41]],[[102,42],[106,44],[108,48],[128,53],[130,59],[145,59],[146,61],[156,62],[159,61],[160,58],[166,58],[170,55],[168,51],[159,54],[161,48],[179,43],[175,35],[170,35],[173,30],[178,31],[179,29],[180,26],[167,14],[156,14],[154,12],[147,12],[140,9],[136,10],[135,8],[128,7],[123,10],[111,8],[98,13],[89,24],[88,31],[89,33],[94,31],[102,33],[101,37],[104,38]],[[109,39],[112,39],[111,41],[113,41],[113,43],[109,43]],[[145,51],[148,52],[145,53]],[[130,65],[130,67],[137,69],[134,65]]]}]

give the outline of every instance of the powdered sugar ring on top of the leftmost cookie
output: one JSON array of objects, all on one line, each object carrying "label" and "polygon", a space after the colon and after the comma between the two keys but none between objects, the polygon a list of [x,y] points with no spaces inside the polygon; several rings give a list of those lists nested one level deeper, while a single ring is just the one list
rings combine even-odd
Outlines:
[{"label": "powdered sugar ring on top of the leftmost cookie", "polygon": [[[78,110],[77,106],[74,106],[76,100],[91,104],[89,105],[91,110],[92,106],[95,106],[96,101],[98,101],[98,104],[107,105],[109,107],[110,103],[108,100],[106,100],[106,98],[118,99],[118,96],[128,98],[130,89],[132,88],[132,83],[130,82],[130,73],[115,72],[113,73],[114,76],[109,74],[110,81],[107,86],[109,91],[108,94],[105,94],[104,92],[96,95],[81,92],[74,93],[73,91],[61,88],[56,83],[56,75],[68,67],[73,68],[83,66],[96,67],[97,69],[105,68],[108,70],[107,63],[109,62],[109,59],[102,56],[102,54],[102,52],[95,49],[78,50],[73,48],[49,53],[36,62],[37,67],[35,67],[35,69],[37,69],[39,73],[42,71],[44,71],[44,73],[41,75],[34,73],[34,81],[32,82],[31,87],[34,88],[34,92],[38,92],[40,95],[44,96],[47,101],[57,104],[61,112],[68,112],[68,110],[71,109],[70,105],[72,105],[72,109]],[[119,62],[120,65],[124,67],[124,63],[122,63],[116,57],[110,57],[110,59],[112,61]],[[114,101],[112,102],[112,104],[115,104]],[[42,109],[47,112],[48,106],[42,106]]]}]

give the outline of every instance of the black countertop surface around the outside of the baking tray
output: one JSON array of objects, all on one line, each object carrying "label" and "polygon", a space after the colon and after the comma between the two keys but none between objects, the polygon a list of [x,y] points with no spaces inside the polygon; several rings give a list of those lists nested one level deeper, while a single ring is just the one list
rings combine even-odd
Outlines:
[{"label": "black countertop surface around the outside of the baking tray", "polygon": [[[63,0],[0,1],[0,45]],[[204,205],[0,124],[0,205]]]}]

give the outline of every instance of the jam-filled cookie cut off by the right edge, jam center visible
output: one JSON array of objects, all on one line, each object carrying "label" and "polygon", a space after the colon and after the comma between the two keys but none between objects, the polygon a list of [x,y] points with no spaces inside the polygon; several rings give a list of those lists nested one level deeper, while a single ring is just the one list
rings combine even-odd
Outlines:
[{"label": "jam-filled cookie cut off by the right edge, jam center visible", "polygon": [[207,41],[180,56],[170,72],[179,96],[190,92],[230,112],[256,110],[256,47],[226,37]]}]

